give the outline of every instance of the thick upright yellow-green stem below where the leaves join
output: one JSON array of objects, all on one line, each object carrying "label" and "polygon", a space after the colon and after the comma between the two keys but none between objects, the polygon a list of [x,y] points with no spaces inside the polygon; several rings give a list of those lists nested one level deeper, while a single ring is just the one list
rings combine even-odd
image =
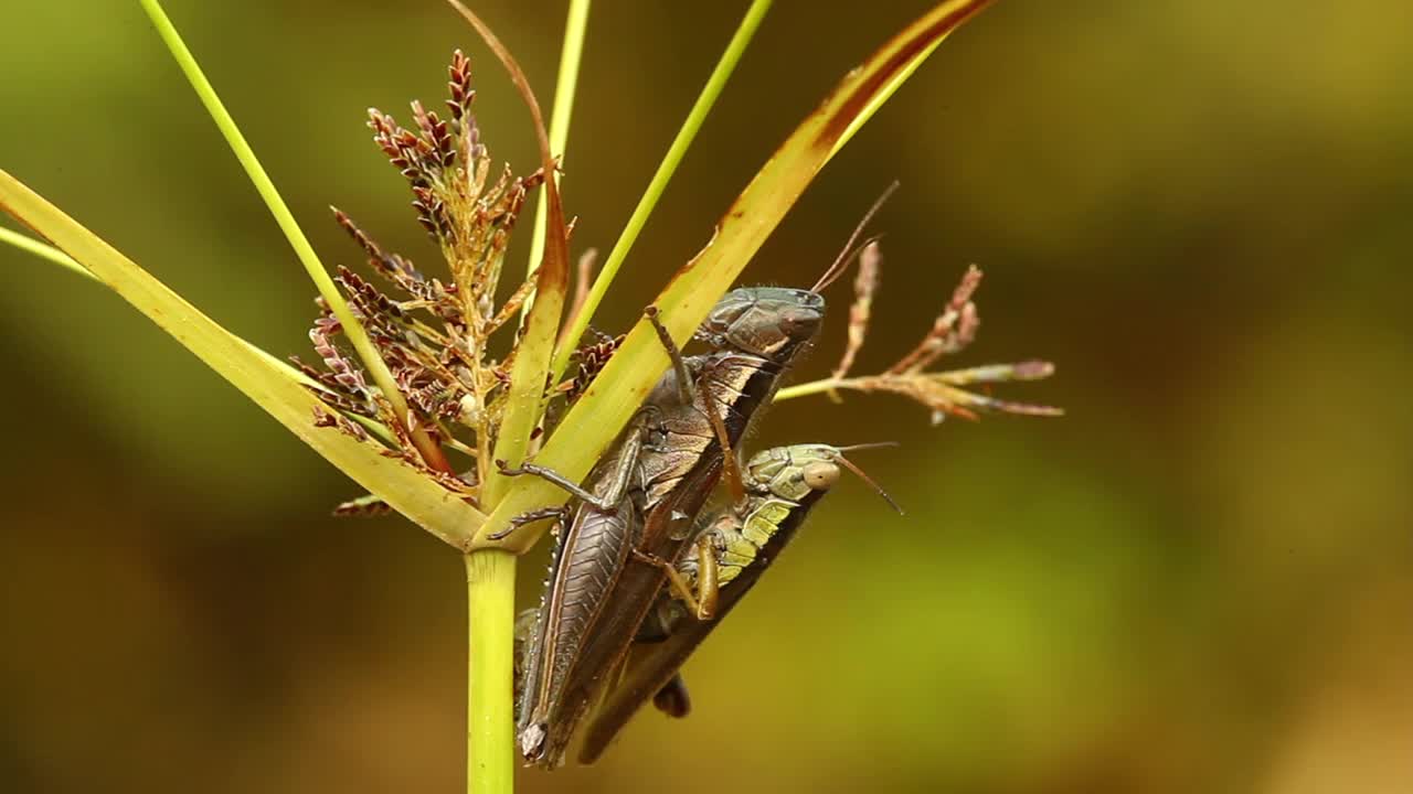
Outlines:
[{"label": "thick upright yellow-green stem below where the leaves join", "polygon": [[466,791],[514,790],[516,557],[483,548],[465,555],[471,647],[466,678]]}]

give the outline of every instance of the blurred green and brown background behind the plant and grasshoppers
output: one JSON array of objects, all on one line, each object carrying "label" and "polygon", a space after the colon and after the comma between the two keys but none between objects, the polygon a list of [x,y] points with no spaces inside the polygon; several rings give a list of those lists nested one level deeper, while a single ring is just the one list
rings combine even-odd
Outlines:
[{"label": "blurred green and brown background behind the plant and grasshoppers", "polygon": [[[478,1],[550,99],[561,3]],[[564,182],[612,243],[745,3],[598,3]],[[923,3],[781,3],[640,242],[620,329]],[[170,0],[325,261],[328,203],[432,268],[363,127],[479,66],[435,0]],[[1413,49],[1397,0],[1009,0],[952,37],[746,271],[807,284],[885,184],[859,372],[986,270],[957,365],[1063,420],[801,400],[755,446],[858,459],[601,766],[523,791],[1413,791]],[[307,353],[312,287],[136,3],[10,3],[0,165],[215,318]],[[520,250],[524,250],[521,240]],[[514,261],[523,261],[523,253]],[[1399,263],[1403,263],[1402,266]],[[456,791],[462,569],[105,290],[0,250],[0,790]],[[846,288],[836,288],[842,309]],[[836,311],[804,377],[832,366]],[[521,567],[536,598],[541,552]]]}]

